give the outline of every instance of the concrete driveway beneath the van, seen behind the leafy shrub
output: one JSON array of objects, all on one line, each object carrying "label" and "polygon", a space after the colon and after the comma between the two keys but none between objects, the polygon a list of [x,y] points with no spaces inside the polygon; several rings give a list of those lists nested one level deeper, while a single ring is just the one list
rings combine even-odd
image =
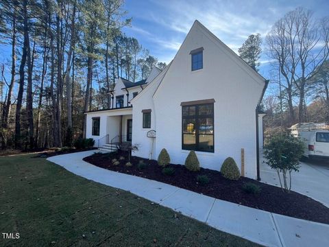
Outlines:
[{"label": "concrete driveway beneath the van, seen behind the leafy shrub", "polygon": [[[307,160],[300,164],[300,172],[291,174],[291,189],[329,207],[329,161]],[[263,183],[280,187],[276,170],[260,158],[260,179]]]}]

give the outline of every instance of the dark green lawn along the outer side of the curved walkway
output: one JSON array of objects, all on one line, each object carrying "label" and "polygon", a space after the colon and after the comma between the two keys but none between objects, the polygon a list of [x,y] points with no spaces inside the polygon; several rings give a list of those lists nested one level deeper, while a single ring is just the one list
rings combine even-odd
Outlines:
[{"label": "dark green lawn along the outer side of the curved walkway", "polygon": [[0,246],[256,246],[33,156],[0,158]]}]

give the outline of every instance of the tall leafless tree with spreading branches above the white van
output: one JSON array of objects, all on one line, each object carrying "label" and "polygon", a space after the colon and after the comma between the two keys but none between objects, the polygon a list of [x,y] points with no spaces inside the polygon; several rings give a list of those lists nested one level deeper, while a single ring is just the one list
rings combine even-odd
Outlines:
[{"label": "tall leafless tree with spreading branches above the white van", "polygon": [[277,21],[267,35],[267,53],[278,62],[288,95],[291,124],[293,87],[299,97],[298,121],[305,120],[306,83],[315,76],[315,70],[328,58],[329,19],[317,21],[312,12],[297,8]]}]

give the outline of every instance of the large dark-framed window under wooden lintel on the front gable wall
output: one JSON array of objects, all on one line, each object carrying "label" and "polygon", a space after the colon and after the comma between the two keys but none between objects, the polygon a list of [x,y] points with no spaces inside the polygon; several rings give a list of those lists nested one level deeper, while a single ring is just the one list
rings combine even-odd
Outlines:
[{"label": "large dark-framed window under wooden lintel on the front gable wall", "polygon": [[214,152],[214,104],[182,106],[182,149]]}]

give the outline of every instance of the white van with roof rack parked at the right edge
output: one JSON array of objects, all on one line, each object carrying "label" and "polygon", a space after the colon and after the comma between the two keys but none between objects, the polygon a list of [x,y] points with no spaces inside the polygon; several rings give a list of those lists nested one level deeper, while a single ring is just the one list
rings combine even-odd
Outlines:
[{"label": "white van with roof rack parked at the right edge", "polygon": [[306,144],[304,156],[329,158],[329,130],[298,131],[297,136]]}]

